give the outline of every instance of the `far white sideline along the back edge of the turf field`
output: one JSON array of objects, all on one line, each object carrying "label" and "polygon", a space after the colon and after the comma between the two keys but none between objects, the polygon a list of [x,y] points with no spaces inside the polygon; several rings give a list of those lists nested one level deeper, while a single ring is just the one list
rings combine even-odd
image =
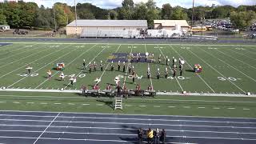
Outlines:
[{"label": "far white sideline along the back edge of the turf field", "polygon": [[[6,43],[6,42],[0,42],[0,43]],[[50,44],[50,45],[52,45],[52,44],[57,44],[57,45],[60,45],[60,44],[70,44],[70,45],[73,45],[73,44],[75,44],[75,45],[81,45],[81,44],[92,44],[92,45],[98,45],[98,44],[106,44],[106,43],[99,43],[99,42],[11,42],[11,43],[45,43],[45,44]],[[110,44],[112,44],[112,43],[110,43]],[[123,43],[118,43],[118,42],[113,42],[113,45],[123,45]],[[134,45],[134,43],[126,43],[126,45]],[[145,45],[145,44],[140,44],[140,43],[138,43],[138,44],[136,44],[136,45]],[[146,45],[152,45],[152,46],[154,46],[155,44],[154,43],[152,43],[152,44],[150,44],[150,43],[148,43],[148,44],[146,44]],[[168,45],[168,43],[166,43],[166,44],[164,44],[164,43],[162,43],[162,44],[158,44],[158,45]],[[254,45],[224,45],[224,44],[220,44],[220,45],[213,45],[213,44],[211,44],[211,45],[207,45],[207,44],[179,44],[179,43],[177,43],[177,44],[170,44],[170,45],[179,45],[179,46],[247,46],[247,47],[256,47],[256,46],[254,46]]]}]

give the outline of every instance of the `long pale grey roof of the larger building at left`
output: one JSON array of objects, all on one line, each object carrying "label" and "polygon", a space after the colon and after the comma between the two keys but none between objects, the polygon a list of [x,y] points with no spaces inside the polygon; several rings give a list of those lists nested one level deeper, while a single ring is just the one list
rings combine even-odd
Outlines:
[{"label": "long pale grey roof of the larger building at left", "polygon": [[[67,26],[75,26],[75,21]],[[98,19],[79,19],[77,26],[122,26],[122,27],[147,27],[146,20],[98,20]]]}]

